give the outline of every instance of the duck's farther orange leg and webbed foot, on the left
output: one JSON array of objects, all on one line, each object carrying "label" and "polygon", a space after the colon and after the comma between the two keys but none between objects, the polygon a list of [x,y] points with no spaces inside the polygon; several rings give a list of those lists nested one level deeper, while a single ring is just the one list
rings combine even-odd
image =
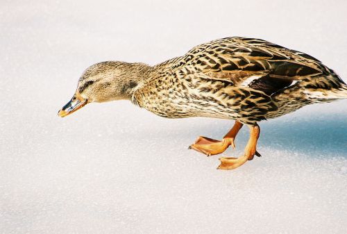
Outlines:
[{"label": "duck's farther orange leg and webbed foot, on the left", "polygon": [[223,137],[223,140],[214,140],[208,137],[198,137],[194,144],[189,149],[194,149],[198,152],[204,153],[207,156],[223,153],[230,145],[235,149],[235,137],[243,124],[235,121],[234,126]]}]

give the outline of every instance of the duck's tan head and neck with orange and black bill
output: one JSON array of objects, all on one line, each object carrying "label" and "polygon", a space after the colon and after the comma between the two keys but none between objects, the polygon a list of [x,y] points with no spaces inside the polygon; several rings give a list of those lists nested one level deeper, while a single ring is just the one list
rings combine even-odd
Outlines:
[{"label": "duck's tan head and neck with orange and black bill", "polygon": [[87,103],[131,99],[148,69],[149,66],[142,63],[116,61],[99,62],[88,67],[78,80],[74,96],[58,115],[70,115]]}]

